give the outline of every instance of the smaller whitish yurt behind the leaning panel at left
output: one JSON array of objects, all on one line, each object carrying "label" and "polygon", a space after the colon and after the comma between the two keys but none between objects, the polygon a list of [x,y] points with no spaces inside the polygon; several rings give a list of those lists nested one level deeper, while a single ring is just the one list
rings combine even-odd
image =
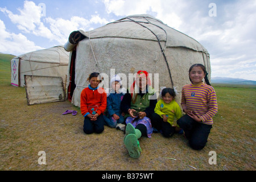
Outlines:
[{"label": "smaller whitish yurt behind the leaning panel at left", "polygon": [[24,75],[62,77],[67,82],[69,52],[63,46],[24,53],[11,60],[11,85],[25,86]]}]

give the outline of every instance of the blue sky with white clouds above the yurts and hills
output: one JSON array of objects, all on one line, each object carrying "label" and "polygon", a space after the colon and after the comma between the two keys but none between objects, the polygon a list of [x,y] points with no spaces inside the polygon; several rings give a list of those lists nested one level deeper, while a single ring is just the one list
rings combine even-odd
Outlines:
[{"label": "blue sky with white clouds above the yurts and hills", "polygon": [[255,0],[0,0],[0,52],[21,55],[64,45],[128,15],[150,14],[201,43],[212,77],[256,81]]}]

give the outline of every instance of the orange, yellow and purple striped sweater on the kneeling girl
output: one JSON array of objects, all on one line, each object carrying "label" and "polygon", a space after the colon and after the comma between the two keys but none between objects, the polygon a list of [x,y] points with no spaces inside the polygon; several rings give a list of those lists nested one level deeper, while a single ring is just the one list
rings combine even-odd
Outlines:
[{"label": "orange, yellow and purple striped sweater on the kneeling girl", "polygon": [[212,117],[218,111],[216,93],[212,86],[201,82],[197,85],[185,85],[182,88],[181,106],[189,109],[203,121],[212,125]]}]

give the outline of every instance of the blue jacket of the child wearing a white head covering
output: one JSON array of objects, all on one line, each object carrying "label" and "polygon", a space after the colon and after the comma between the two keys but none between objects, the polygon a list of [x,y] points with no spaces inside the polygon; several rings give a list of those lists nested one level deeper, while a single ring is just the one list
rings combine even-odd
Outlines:
[{"label": "blue jacket of the child wearing a white head covering", "polygon": [[113,114],[121,115],[122,111],[120,109],[121,101],[123,99],[123,93],[110,93],[107,97],[106,110],[108,112],[108,117]]}]

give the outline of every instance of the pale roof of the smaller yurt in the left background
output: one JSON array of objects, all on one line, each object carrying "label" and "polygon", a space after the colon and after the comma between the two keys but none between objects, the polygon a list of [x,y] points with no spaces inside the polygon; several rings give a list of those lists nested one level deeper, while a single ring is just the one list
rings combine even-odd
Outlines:
[{"label": "pale roof of the smaller yurt in the left background", "polygon": [[14,59],[18,58],[40,63],[68,65],[69,52],[65,51],[63,46],[55,46],[47,49],[40,49],[38,51],[24,53],[23,55],[14,57]]}]

